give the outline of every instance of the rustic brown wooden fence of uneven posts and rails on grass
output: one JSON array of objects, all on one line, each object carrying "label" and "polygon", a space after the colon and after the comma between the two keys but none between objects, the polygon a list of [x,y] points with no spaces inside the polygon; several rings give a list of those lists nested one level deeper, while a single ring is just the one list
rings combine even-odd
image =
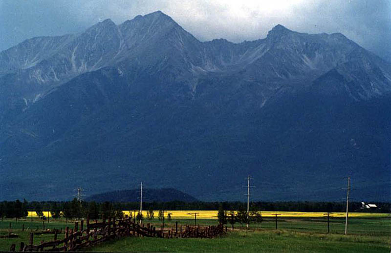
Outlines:
[{"label": "rustic brown wooden fence of uneven posts and rails on grass", "polygon": [[[223,226],[209,226],[209,227],[193,227],[182,226],[178,228],[178,223],[172,228],[160,228],[156,230],[151,224],[147,226],[134,223],[128,215],[124,219],[116,220],[115,218],[105,219],[102,222],[90,223],[86,220],[86,228],[84,228],[84,220],[75,222],[73,229],[65,228],[64,239],[58,239],[59,231],[54,231],[54,240],[49,242],[41,242],[38,246],[33,245],[34,232],[30,233],[29,243],[25,245],[20,244],[19,251],[47,251],[47,252],[66,252],[77,251],[84,247],[92,246],[109,239],[120,238],[124,236],[147,236],[159,238],[212,238],[221,235],[224,232]],[[37,234],[37,233],[35,233]],[[15,251],[16,245],[12,244],[10,251]]]}]

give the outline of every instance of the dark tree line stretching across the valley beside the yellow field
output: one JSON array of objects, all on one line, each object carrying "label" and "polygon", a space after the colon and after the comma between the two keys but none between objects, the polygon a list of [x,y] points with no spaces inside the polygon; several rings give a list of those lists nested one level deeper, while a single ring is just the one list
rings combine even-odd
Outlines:
[{"label": "dark tree line stretching across the valley beside the yellow field", "polygon": [[[247,203],[243,202],[145,202],[143,208],[148,210],[145,218],[154,218],[153,210],[224,210],[227,212],[227,217],[230,211],[236,211],[237,213],[245,210]],[[371,212],[390,212],[390,203],[376,203],[377,209],[370,210]],[[0,216],[7,218],[22,218],[27,216],[27,211],[35,211],[40,217],[47,216],[47,213],[43,211],[49,211],[53,218],[82,218],[89,217],[91,219],[101,219],[103,217],[117,216],[121,217],[124,210],[132,211],[138,210],[140,207],[139,202],[122,202],[111,203],[102,202],[97,203],[95,201],[85,202],[78,201],[76,198],[72,201],[42,201],[42,202],[27,202],[26,200],[20,201],[2,201],[0,202]],[[361,202],[350,202],[349,211],[367,211],[361,209]],[[152,212],[151,212],[152,211]],[[346,211],[345,202],[251,202],[250,212],[253,211],[254,215],[257,211],[323,211],[323,212],[341,212]],[[247,213],[247,211],[244,211]],[[139,216],[140,219],[144,217],[140,213],[134,213],[134,218]],[[168,213],[167,213],[168,215]],[[246,214],[247,217],[247,214]]]}]

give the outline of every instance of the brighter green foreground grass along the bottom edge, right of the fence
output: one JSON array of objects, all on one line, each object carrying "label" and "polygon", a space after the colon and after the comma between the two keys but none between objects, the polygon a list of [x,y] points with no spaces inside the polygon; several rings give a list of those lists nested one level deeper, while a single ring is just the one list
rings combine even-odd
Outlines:
[{"label": "brighter green foreground grass along the bottom edge, right of the fence", "polygon": [[387,237],[303,233],[286,230],[228,232],[214,239],[127,237],[97,245],[92,252],[264,252],[264,253],[384,253]]}]

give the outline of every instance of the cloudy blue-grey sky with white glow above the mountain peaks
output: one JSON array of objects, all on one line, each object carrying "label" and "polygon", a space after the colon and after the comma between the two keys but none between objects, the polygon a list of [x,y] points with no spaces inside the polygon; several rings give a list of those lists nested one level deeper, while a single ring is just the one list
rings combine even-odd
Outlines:
[{"label": "cloudy blue-grey sky with white glow above the mountain peaks", "polygon": [[0,51],[157,10],[200,41],[262,39],[280,23],[298,32],[341,32],[391,60],[391,0],[0,0]]}]

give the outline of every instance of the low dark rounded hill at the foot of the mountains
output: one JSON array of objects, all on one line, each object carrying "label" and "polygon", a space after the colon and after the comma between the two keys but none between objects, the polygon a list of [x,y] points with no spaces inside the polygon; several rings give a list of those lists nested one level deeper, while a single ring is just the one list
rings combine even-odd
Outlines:
[{"label": "low dark rounded hill at the foot of the mountains", "polygon": [[[86,201],[96,202],[137,202],[140,201],[140,190],[116,190],[103,192],[89,196]],[[143,189],[144,202],[169,202],[169,201],[183,201],[194,202],[197,199],[185,192],[175,190],[174,188],[162,189]]]}]

